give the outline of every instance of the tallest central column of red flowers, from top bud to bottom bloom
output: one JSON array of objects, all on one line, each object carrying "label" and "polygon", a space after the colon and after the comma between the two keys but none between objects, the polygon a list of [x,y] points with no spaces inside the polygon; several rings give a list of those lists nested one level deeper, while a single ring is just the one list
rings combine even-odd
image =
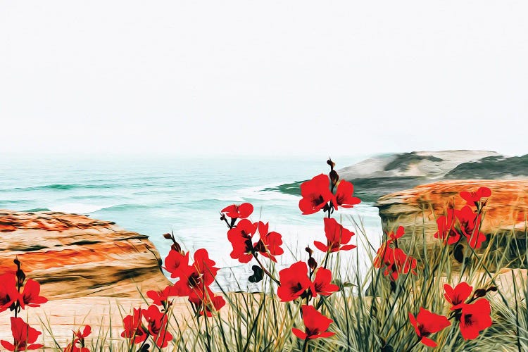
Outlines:
[{"label": "tallest central column of red flowers, from top bud to bottom bloom", "polygon": [[[313,242],[315,248],[325,253],[324,265],[318,267],[317,261],[312,256],[313,251],[307,247],[307,263],[298,261],[289,268],[280,270],[277,288],[277,296],[283,302],[306,300],[306,304],[301,306],[304,331],[296,327],[292,329],[296,337],[304,340],[305,347],[309,339],[334,336],[334,332],[327,331],[333,320],[318,311],[322,297],[339,291],[339,287],[332,284],[332,272],[326,268],[327,260],[331,253],[356,248],[355,245],[348,244],[354,233],[332,218],[332,213],[338,210],[339,206],[352,208],[360,203],[360,199],[353,196],[351,182],[339,180],[339,175],[334,170],[335,163],[331,159],[327,163],[330,166],[329,175],[317,175],[301,184],[302,199],[298,203],[303,215],[317,213],[319,210],[327,213],[323,218],[326,244],[320,241]],[[310,306],[310,300],[318,295],[322,296],[319,303]]]}]

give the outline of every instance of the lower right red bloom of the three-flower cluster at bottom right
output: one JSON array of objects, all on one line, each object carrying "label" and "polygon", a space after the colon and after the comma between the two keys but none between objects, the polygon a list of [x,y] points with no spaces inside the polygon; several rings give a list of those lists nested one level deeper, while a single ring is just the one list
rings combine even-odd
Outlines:
[{"label": "lower right red bloom of the three-flower cluster at bottom right", "polygon": [[486,298],[472,304],[462,305],[460,316],[460,333],[466,340],[479,336],[479,332],[491,327],[491,307]]}]

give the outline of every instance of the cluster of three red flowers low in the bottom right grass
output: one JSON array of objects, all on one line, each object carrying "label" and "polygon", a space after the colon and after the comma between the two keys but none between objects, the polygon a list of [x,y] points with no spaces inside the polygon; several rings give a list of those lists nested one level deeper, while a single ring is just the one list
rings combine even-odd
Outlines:
[{"label": "cluster of three red flowers low in the bottom right grass", "polygon": [[489,301],[486,298],[477,298],[484,296],[487,291],[496,290],[496,287],[477,289],[473,295],[472,290],[473,288],[466,282],[460,282],[454,289],[449,284],[444,285],[444,297],[451,304],[450,318],[432,313],[425,308],[420,308],[416,317],[409,313],[409,320],[415,329],[418,342],[436,347],[436,342],[429,339],[429,336],[450,326],[449,320],[453,318],[459,322],[460,334],[466,340],[477,338],[482,330],[491,327]]}]

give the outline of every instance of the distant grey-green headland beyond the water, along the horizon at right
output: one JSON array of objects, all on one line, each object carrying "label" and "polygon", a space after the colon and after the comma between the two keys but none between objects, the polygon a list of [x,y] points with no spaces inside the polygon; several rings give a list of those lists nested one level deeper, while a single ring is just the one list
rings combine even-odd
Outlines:
[{"label": "distant grey-green headland beyond the water, along the horizon at right", "polygon": [[[374,156],[337,172],[354,184],[355,196],[373,202],[384,194],[442,180],[528,178],[528,154],[508,157],[495,151],[413,151]],[[302,182],[266,190],[300,195]]]}]

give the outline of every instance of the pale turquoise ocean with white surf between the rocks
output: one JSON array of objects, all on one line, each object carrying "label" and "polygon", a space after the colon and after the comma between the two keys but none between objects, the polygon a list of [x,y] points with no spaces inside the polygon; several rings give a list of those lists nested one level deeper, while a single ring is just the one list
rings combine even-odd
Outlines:
[{"label": "pale turquoise ocean with white surf between the rocks", "polygon": [[[363,160],[364,156],[336,160],[337,169]],[[280,265],[293,262],[307,244],[325,242],[322,213],[301,215],[299,196],[266,191],[279,184],[308,180],[327,173],[326,159],[316,158],[176,158],[176,157],[0,157],[0,208],[51,210],[81,213],[111,220],[127,230],[149,236],[164,258],[174,232],[185,249],[205,248],[222,268],[218,277],[223,289],[251,290],[245,278],[251,263],[230,258],[227,226],[219,211],[232,203],[250,202],[255,207],[251,220],[270,223],[282,234],[285,255]],[[363,220],[373,246],[382,236],[377,208],[361,203],[340,209],[343,225],[354,231],[350,216]],[[337,218],[338,220],[340,218]],[[358,233],[358,231],[354,231]],[[372,251],[358,236],[358,254],[368,266]],[[291,252],[289,249],[291,249]],[[377,247],[375,247],[377,248]],[[363,270],[363,269],[361,269]],[[241,285],[241,287],[239,287]],[[253,287],[254,288],[254,287]]]}]

